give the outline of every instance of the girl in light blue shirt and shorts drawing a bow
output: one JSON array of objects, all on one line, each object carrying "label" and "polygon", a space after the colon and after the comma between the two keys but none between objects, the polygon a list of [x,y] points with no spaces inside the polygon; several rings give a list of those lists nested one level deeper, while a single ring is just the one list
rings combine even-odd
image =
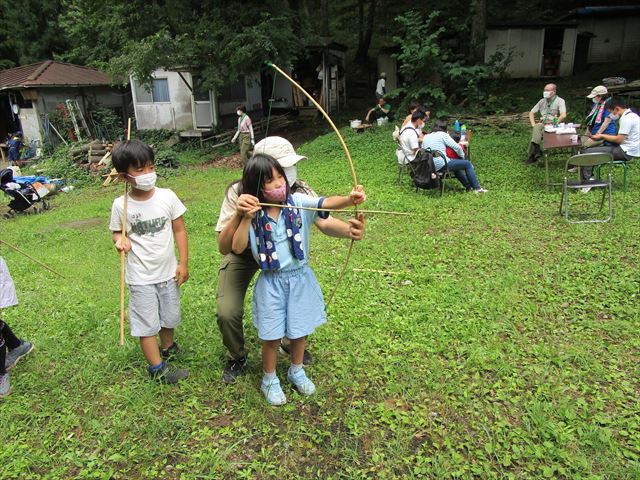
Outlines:
[{"label": "girl in light blue shirt and shorts drawing a bow", "polygon": [[[287,398],[276,375],[276,356],[282,337],[291,339],[291,367],[287,379],[303,395],[315,392],[302,360],[306,336],[326,322],[320,285],[308,265],[309,233],[317,215],[328,212],[295,207],[345,208],[366,200],[362,186],[348,197],[317,198],[291,194],[280,164],[266,155],[254,155],[244,168],[238,198],[242,217],[232,249],[241,254],[251,247],[260,266],[253,292],[253,323],[262,340],[264,377],[260,390],[271,405]],[[258,202],[282,207],[262,207]]]}]

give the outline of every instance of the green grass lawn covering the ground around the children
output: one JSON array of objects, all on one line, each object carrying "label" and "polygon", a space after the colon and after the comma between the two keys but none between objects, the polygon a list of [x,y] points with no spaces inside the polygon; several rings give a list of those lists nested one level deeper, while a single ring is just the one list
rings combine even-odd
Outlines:
[{"label": "green grass lawn covering the ground around the children", "polygon": [[[160,182],[189,209],[177,339],[191,377],[177,387],[148,380],[132,338],[118,346],[107,225],[121,187],[74,190],[46,214],[0,221],[1,238],[66,275],[0,247],[21,302],[3,316],[36,345],[0,401],[0,477],[640,478],[639,166],[624,210],[615,172],[611,223],[571,225],[543,169],[523,165],[525,129],[476,132],[489,193],[451,182],[443,198],[396,184],[390,132],[345,137],[366,208],[411,217],[368,219],[329,322],[310,340],[318,392],[303,399],[287,386],[281,408],[258,390],[250,317],[248,374],[220,380],[214,226],[240,172],[191,166]],[[299,176],[318,192],[350,190],[333,134],[299,151],[309,157]],[[328,296],[348,243],[314,233]],[[286,366],[281,358],[281,378]]]}]

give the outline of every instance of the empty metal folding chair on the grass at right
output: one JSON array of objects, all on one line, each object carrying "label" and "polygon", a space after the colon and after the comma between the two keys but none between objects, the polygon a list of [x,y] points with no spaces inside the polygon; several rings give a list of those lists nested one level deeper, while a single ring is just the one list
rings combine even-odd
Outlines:
[{"label": "empty metal folding chair on the grass at right", "polygon": [[[609,173],[606,180],[582,180],[582,169],[585,167],[591,167],[593,169],[601,168],[602,165],[609,166]],[[564,181],[562,182],[562,196],[560,197],[560,215],[570,223],[602,223],[609,222],[613,217],[613,187],[611,183],[611,170],[613,168],[613,155],[610,153],[581,153],[579,155],[572,156],[565,165],[565,172],[570,166],[578,167],[578,181],[569,181],[566,174]],[[609,216],[604,219],[584,219],[586,214],[574,214],[581,218],[580,220],[574,220],[569,214],[569,190],[578,190],[582,188],[601,188],[602,199],[600,201],[600,210],[604,206],[604,199],[609,193]]]}]

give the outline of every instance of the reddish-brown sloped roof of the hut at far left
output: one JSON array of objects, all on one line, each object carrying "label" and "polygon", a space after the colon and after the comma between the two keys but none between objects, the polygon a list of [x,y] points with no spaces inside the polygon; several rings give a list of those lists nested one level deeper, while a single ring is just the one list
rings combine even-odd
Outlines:
[{"label": "reddish-brown sloped roof of the hut at far left", "polygon": [[0,71],[0,90],[29,87],[88,87],[110,84],[111,78],[95,68],[54,62],[53,60]]}]

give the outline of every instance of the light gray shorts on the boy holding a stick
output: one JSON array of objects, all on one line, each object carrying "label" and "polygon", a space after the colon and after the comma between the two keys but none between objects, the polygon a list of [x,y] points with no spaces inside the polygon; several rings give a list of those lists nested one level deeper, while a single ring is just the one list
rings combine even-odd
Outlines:
[{"label": "light gray shorts on the boy holding a stick", "polygon": [[175,279],[153,285],[129,285],[132,337],[153,337],[180,323],[180,290]]}]

